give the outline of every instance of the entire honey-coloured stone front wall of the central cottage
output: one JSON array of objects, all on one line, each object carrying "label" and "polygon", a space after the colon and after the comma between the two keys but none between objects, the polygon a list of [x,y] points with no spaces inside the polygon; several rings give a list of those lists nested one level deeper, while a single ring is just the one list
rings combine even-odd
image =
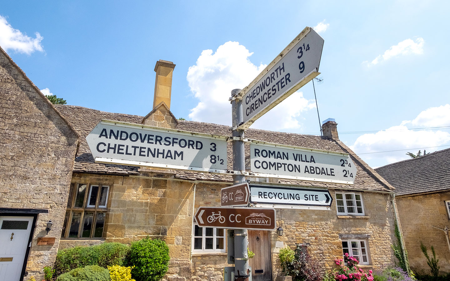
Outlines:
[{"label": "entire honey-coloured stone front wall of the central cottage", "polygon": [[[141,173],[143,174],[143,173]],[[158,177],[158,178],[157,178]],[[165,178],[162,178],[165,177]],[[220,189],[229,184],[178,181],[171,174],[149,176],[107,176],[74,174],[72,183],[111,186],[106,241],[130,243],[146,236],[161,238],[170,249],[171,262],[167,281],[222,280],[227,263],[225,253],[191,254],[193,213],[199,206],[220,206]],[[194,204],[195,186],[195,204]],[[333,198],[334,191],[330,190]],[[340,235],[368,237],[370,265],[367,269],[393,265],[394,219],[391,197],[374,192],[362,193],[365,216],[337,216],[333,199],[331,210],[277,209],[277,226],[283,236],[270,232],[272,277],[280,274],[280,248],[305,243],[313,258],[326,269],[342,257]],[[65,242],[65,241],[64,241]]]}]

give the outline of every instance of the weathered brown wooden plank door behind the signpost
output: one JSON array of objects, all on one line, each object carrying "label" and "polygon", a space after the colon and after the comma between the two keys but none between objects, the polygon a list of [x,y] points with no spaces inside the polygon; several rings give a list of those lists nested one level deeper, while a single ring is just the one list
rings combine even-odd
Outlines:
[{"label": "weathered brown wooden plank door behind the signpost", "polygon": [[255,253],[249,260],[253,281],[272,281],[272,255],[269,231],[248,230],[248,250]]}]

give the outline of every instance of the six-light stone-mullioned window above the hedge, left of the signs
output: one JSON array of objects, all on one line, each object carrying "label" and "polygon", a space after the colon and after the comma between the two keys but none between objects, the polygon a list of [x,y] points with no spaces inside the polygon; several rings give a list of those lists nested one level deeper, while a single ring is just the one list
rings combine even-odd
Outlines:
[{"label": "six-light stone-mullioned window above the hedge, left of the signs", "polygon": [[108,192],[107,185],[72,183],[61,237],[103,237]]}]

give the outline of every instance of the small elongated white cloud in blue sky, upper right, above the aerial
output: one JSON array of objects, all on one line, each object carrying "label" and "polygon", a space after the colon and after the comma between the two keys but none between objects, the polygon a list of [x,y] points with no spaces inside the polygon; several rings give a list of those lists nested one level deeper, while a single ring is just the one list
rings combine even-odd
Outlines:
[{"label": "small elongated white cloud in blue sky, upper right, above the aerial", "polygon": [[376,65],[379,62],[387,61],[388,59],[400,56],[400,55],[410,55],[410,54],[423,54],[423,45],[425,41],[423,38],[419,37],[416,39],[416,42],[412,39],[406,39],[401,41],[395,46],[387,49],[383,55],[379,55],[372,62],[365,62],[369,66]]}]

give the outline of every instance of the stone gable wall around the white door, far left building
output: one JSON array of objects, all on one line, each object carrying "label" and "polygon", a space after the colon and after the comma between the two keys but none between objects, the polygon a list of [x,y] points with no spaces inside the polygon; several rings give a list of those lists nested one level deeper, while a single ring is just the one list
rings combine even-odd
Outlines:
[{"label": "stone gable wall around the white door, far left building", "polygon": [[[0,52],[0,208],[48,210],[37,217],[27,263],[26,274],[36,279],[52,265],[58,249],[77,139]],[[46,235],[49,220],[53,227]],[[55,244],[37,246],[42,236],[56,237]]]}]

